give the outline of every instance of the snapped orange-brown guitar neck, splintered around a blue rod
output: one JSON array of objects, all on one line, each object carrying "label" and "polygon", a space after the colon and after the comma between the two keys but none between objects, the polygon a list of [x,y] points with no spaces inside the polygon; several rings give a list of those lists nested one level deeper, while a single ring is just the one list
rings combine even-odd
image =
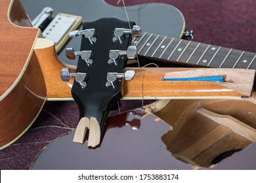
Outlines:
[{"label": "snapped orange-brown guitar neck, splintered around a blue rod", "polygon": [[[123,99],[241,99],[250,97],[255,70],[198,68],[127,68],[135,78],[123,82]],[[163,81],[163,76],[223,75],[225,82]]]}]

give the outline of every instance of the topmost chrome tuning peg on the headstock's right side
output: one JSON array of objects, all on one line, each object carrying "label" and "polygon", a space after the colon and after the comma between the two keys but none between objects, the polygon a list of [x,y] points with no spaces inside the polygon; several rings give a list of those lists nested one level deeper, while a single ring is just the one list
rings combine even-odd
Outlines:
[{"label": "topmost chrome tuning peg on the headstock's right side", "polygon": [[141,29],[138,25],[133,25],[132,29],[125,29],[125,28],[116,28],[114,31],[114,38],[113,41],[117,42],[119,41],[120,44],[122,43],[121,37],[125,37],[127,34],[132,34],[133,37],[140,37],[141,35]]}]

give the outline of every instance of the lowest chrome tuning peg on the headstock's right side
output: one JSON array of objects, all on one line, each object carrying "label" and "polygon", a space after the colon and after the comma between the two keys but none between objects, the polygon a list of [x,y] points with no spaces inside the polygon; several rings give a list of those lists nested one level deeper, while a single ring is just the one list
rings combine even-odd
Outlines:
[{"label": "lowest chrome tuning peg on the headstock's right side", "polygon": [[115,88],[114,82],[117,80],[117,78],[124,78],[125,80],[132,80],[134,78],[134,76],[135,76],[135,71],[133,71],[133,70],[126,71],[125,73],[108,73],[107,74],[108,82],[106,82],[106,87],[113,86],[113,88]]}]

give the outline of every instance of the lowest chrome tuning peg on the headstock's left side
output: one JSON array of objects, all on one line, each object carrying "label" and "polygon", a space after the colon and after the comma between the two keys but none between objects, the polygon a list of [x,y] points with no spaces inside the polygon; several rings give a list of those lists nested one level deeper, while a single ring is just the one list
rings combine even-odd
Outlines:
[{"label": "lowest chrome tuning peg on the headstock's left side", "polygon": [[87,74],[86,73],[70,73],[69,68],[63,68],[60,72],[60,77],[64,82],[69,82],[70,78],[75,78],[75,81],[78,82],[81,86],[81,88],[86,87],[86,78]]}]

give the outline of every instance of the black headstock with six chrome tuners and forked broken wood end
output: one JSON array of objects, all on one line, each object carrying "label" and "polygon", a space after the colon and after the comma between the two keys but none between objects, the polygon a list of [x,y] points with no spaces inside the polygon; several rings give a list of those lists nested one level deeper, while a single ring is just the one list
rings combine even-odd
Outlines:
[{"label": "black headstock with six chrome tuners and forked broken wood end", "polygon": [[66,50],[70,59],[79,56],[77,73],[63,69],[61,74],[62,80],[75,77],[72,96],[79,106],[81,120],[74,141],[82,142],[79,135],[84,139],[88,128],[88,146],[100,143],[108,112],[122,97],[121,78],[133,78],[133,71],[123,74],[123,69],[127,58],[135,57],[136,48],[130,44],[132,34],[138,35],[139,32],[140,28],[134,22],[101,18],[95,22],[84,22],[82,31],[70,33],[71,37],[82,35],[81,51]]}]

